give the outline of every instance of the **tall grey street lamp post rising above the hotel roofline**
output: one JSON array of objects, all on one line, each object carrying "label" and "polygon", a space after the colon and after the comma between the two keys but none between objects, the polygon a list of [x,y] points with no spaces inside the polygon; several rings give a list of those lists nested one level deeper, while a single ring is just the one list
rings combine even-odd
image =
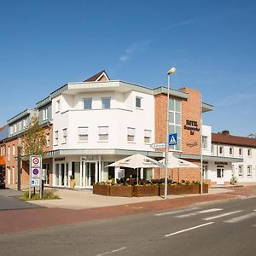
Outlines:
[{"label": "tall grey street lamp post rising above the hotel roofline", "polygon": [[167,72],[168,89],[167,89],[167,108],[166,108],[166,172],[165,172],[165,199],[167,199],[167,174],[168,174],[168,152],[169,152],[169,97],[170,97],[170,75],[176,72],[176,68],[172,67]]}]

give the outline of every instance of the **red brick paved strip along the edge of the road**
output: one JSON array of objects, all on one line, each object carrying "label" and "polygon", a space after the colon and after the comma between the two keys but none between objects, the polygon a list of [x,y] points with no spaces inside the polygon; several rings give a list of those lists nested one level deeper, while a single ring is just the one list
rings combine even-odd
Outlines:
[{"label": "red brick paved strip along the edge of the road", "polygon": [[166,201],[148,201],[129,205],[99,207],[84,210],[60,208],[37,208],[26,210],[0,211],[0,233],[21,230],[42,229],[49,226],[73,224],[101,218],[114,218],[138,212],[155,212],[179,207],[187,207],[195,203],[218,201],[239,196],[256,195],[256,186],[232,188],[230,192],[215,195],[194,195],[172,198]]}]

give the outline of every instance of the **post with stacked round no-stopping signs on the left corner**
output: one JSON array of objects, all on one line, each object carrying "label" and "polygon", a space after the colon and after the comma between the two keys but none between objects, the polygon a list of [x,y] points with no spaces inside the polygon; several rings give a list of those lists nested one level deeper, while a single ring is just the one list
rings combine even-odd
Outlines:
[{"label": "post with stacked round no-stopping signs on the left corner", "polygon": [[29,198],[31,189],[39,187],[40,199],[42,199],[42,156],[31,155],[29,161]]}]

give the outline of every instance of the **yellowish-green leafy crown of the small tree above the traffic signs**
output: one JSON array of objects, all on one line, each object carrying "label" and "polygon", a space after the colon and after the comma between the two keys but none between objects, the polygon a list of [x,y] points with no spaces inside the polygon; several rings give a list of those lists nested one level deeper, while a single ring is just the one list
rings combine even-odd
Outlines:
[{"label": "yellowish-green leafy crown of the small tree above the traffic signs", "polygon": [[21,138],[21,147],[23,155],[43,155],[46,146],[44,129],[39,125],[37,116],[32,117],[31,123],[24,136]]}]

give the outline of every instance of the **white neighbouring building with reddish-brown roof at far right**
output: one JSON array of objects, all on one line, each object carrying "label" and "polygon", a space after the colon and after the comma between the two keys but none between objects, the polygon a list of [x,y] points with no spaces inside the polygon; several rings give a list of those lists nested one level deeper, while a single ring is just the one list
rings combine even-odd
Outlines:
[{"label": "white neighbouring building with reddish-brown roof at far right", "polygon": [[222,183],[229,183],[232,174],[238,182],[256,181],[255,138],[232,136],[229,131],[212,133],[212,155],[234,159],[231,164],[218,164],[217,178]]}]

